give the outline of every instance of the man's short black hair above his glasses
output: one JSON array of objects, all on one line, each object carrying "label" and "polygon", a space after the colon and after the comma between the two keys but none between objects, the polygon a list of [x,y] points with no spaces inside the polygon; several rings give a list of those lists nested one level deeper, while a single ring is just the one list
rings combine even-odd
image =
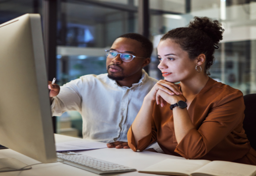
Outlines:
[{"label": "man's short black hair above his glasses", "polygon": [[145,53],[144,57],[146,57],[146,58],[151,57],[151,54],[152,54],[152,51],[153,51],[153,44],[147,37],[144,37],[143,35],[140,35],[138,33],[126,33],[126,34],[121,35],[117,38],[120,38],[120,37],[137,40],[138,42],[141,43],[141,47],[143,48],[143,51]]}]

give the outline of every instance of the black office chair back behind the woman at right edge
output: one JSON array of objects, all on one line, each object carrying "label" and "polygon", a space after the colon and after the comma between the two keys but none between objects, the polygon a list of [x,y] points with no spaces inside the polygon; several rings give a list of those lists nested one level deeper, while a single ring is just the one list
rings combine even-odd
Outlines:
[{"label": "black office chair back behind the woman at right edge", "polygon": [[243,128],[252,148],[256,149],[256,94],[244,96],[245,101],[245,119]]}]

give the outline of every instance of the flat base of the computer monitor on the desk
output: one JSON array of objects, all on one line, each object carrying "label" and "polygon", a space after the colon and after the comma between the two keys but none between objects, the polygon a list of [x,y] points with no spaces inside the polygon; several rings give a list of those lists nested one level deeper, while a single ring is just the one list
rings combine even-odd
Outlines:
[{"label": "flat base of the computer monitor on the desk", "polygon": [[0,158],[0,172],[8,171],[19,171],[31,169],[31,166],[27,166],[25,163],[15,159],[15,158]]}]

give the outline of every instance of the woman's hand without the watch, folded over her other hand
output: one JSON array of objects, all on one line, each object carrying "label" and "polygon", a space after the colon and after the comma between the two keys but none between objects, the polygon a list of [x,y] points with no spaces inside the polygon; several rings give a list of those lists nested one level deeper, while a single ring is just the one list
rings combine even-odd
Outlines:
[{"label": "woman's hand without the watch, folded over her other hand", "polygon": [[[151,89],[151,91],[146,95],[145,99],[147,99],[148,101],[151,101],[151,102],[157,101],[157,104],[161,103],[162,107],[166,106],[166,101],[161,97],[160,94],[157,95],[157,92],[160,90],[165,92],[169,96],[182,95],[182,92],[179,89],[179,87],[177,86],[177,84],[168,82],[166,80],[160,80],[154,85],[154,87]],[[167,101],[167,102],[169,103],[169,101]]]}]

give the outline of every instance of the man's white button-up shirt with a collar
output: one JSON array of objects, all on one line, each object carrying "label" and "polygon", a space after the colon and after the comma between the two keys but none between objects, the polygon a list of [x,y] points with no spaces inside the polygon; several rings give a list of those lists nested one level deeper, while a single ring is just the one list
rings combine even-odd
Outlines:
[{"label": "man's white button-up shirt with a collar", "polygon": [[53,116],[76,110],[83,118],[83,139],[110,143],[127,141],[127,132],[144,97],[158,80],[143,70],[138,83],[121,87],[107,73],[85,75],[60,86],[52,99]]}]

